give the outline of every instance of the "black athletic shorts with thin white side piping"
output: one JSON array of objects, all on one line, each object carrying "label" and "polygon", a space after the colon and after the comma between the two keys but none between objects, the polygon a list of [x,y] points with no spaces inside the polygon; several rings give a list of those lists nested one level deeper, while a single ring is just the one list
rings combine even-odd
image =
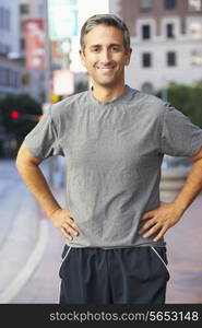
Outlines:
[{"label": "black athletic shorts with thin white side piping", "polygon": [[60,304],[164,304],[166,247],[71,248],[59,270]]}]

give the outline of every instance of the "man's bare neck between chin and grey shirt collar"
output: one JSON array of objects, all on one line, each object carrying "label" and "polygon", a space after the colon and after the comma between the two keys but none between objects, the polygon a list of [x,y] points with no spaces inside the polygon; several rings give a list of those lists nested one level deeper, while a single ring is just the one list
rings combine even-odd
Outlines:
[{"label": "man's bare neck between chin and grey shirt collar", "polygon": [[102,103],[107,103],[111,102],[124,92],[124,83],[120,84],[119,86],[116,87],[106,87],[106,86],[100,86],[100,85],[95,85],[93,83],[93,96],[95,99]]}]

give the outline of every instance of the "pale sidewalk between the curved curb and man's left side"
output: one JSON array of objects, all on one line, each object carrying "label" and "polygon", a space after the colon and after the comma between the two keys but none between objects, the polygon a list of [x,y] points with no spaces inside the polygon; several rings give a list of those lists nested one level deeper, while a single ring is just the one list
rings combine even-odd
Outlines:
[{"label": "pale sidewalk between the curved curb and man's left side", "polygon": [[[58,188],[55,195],[58,200],[62,199],[63,190]],[[62,203],[62,200],[61,202]],[[27,283],[21,289],[19,294],[11,303],[19,304],[55,304],[58,303],[60,279],[59,268],[61,260],[61,253],[64,245],[64,237],[52,225],[52,223],[45,218],[40,211],[40,219],[47,223],[48,238],[46,249],[40,259],[39,265],[34,270]]]}]

